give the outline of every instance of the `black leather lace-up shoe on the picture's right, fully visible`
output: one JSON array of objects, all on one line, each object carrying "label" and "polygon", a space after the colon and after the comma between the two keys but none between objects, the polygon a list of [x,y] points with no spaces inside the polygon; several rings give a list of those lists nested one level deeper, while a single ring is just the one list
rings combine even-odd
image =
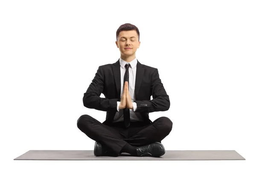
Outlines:
[{"label": "black leather lace-up shoe on the picture's right, fully visible", "polygon": [[154,142],[152,144],[137,147],[136,150],[138,156],[160,157],[165,154],[163,144],[160,142]]}]

